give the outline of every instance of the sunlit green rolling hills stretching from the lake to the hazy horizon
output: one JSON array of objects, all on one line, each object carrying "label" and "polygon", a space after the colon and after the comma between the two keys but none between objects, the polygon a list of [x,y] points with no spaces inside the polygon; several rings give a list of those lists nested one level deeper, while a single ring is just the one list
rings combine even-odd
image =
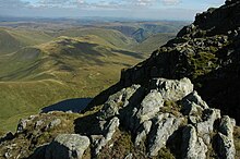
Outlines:
[{"label": "sunlit green rolling hills stretching from the lake to the hazy horizon", "polygon": [[[28,24],[0,28],[0,132],[61,100],[94,97],[175,35],[155,22]],[[137,41],[142,27],[148,35]]]}]

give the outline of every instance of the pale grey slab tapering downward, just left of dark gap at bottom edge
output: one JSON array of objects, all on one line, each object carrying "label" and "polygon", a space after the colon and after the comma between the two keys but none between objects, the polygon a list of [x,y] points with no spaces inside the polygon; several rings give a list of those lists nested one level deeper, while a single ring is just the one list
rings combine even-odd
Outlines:
[{"label": "pale grey slab tapering downward, just left of dark gap at bottom edge", "polygon": [[184,120],[169,114],[160,114],[158,122],[152,129],[148,140],[148,155],[157,156],[158,151],[166,146],[168,138],[177,131]]}]

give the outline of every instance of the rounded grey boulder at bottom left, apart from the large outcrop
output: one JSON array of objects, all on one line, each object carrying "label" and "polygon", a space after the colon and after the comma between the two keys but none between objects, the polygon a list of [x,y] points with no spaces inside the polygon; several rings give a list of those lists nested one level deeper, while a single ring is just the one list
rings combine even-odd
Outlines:
[{"label": "rounded grey boulder at bottom left, apart from the large outcrop", "polygon": [[46,159],[81,159],[89,139],[79,134],[59,134],[46,148]]}]

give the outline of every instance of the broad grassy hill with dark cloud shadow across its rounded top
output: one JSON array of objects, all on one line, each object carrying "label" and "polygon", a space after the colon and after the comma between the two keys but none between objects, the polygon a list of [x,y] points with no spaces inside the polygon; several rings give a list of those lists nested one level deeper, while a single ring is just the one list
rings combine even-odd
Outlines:
[{"label": "broad grassy hill with dark cloud shadow across its rounded top", "polygon": [[140,54],[110,47],[96,36],[59,37],[16,51],[0,63],[2,131],[43,107],[95,96],[119,80],[122,68],[141,60]]}]

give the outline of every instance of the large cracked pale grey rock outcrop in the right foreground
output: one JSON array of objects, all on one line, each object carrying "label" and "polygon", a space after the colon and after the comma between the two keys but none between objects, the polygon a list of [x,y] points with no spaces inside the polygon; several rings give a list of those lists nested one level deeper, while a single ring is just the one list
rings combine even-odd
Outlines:
[{"label": "large cracked pale grey rock outcrop in the right foreground", "polygon": [[[98,113],[101,122],[108,123],[103,127],[103,132],[106,133],[100,136],[93,134],[96,155],[100,152],[101,147],[107,145],[121,125],[124,130],[136,134],[135,146],[144,144],[149,157],[158,156],[159,150],[167,146],[169,138],[176,132],[182,136],[180,143],[182,158],[206,158],[217,133],[219,137],[215,142],[218,144],[215,145],[220,150],[220,154],[216,151],[219,154],[218,157],[235,156],[233,123],[229,122],[230,120],[227,121],[226,117],[221,118],[220,110],[209,109],[193,90],[193,85],[188,78],[180,81],[155,78],[153,81],[155,85],[149,82],[149,87],[143,88],[145,91],[141,89],[143,86],[133,85],[109,97]],[[141,98],[131,98],[131,95],[134,96],[140,90],[141,96],[139,97]],[[172,105],[179,103],[179,112],[176,113],[171,105],[166,106],[167,101],[171,101]],[[107,112],[110,112],[111,115],[108,115]],[[112,120],[108,122],[110,117]],[[221,121],[220,125],[217,125],[218,121]]]}]

